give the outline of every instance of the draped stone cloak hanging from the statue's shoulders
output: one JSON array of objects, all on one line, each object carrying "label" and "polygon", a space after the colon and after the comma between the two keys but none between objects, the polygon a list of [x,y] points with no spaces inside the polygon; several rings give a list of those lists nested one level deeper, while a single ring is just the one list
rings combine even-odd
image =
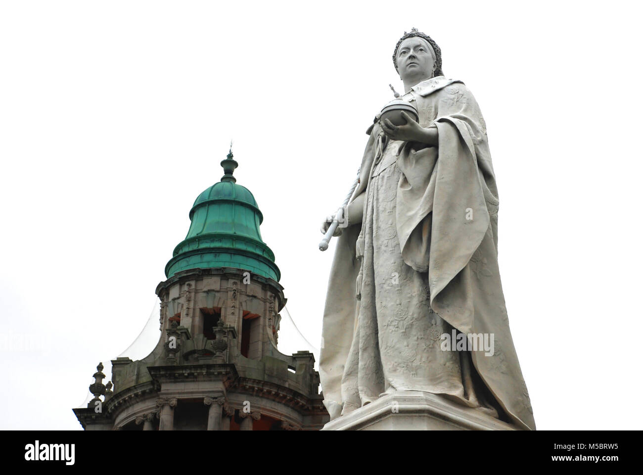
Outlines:
[{"label": "draped stone cloak hanging from the statue's shoulders", "polygon": [[[484,118],[459,80],[424,80],[404,98],[418,108],[422,127],[437,128],[439,142],[437,148],[417,143],[399,147],[395,226],[401,256],[413,270],[428,275],[433,312],[462,333],[493,334],[493,355],[482,348],[471,351],[473,366],[512,422],[520,429],[536,429],[500,282],[498,192]],[[367,190],[376,154],[386,146],[380,132],[377,123],[368,131],[349,206]],[[358,324],[361,228],[349,225],[337,238],[329,277],[320,380],[331,414],[345,404],[341,381]]]}]

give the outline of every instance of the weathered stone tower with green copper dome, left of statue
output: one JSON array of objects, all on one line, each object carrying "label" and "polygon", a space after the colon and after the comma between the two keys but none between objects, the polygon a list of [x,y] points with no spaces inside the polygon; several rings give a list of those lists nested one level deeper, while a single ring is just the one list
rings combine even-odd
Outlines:
[{"label": "weathered stone tower with green copper dome, left of statue", "polygon": [[197,197],[156,287],[156,348],[113,360],[107,385],[98,365],[95,397],[73,410],[84,429],[316,430],[328,422],[312,353],[276,347],[286,299],[257,201],[237,185],[231,151],[221,166],[221,182]]}]

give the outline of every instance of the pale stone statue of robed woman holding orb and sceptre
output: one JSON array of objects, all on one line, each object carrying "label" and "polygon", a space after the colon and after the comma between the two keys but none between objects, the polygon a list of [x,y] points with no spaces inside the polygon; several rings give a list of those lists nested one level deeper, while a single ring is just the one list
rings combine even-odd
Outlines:
[{"label": "pale stone statue of robed woman holding orb and sceptre", "polygon": [[[498,192],[482,113],[415,28],[395,46],[419,122],[376,121],[338,228],[320,378],[331,420],[426,391],[535,429],[498,271]],[[326,232],[330,219],[322,226]]]}]

